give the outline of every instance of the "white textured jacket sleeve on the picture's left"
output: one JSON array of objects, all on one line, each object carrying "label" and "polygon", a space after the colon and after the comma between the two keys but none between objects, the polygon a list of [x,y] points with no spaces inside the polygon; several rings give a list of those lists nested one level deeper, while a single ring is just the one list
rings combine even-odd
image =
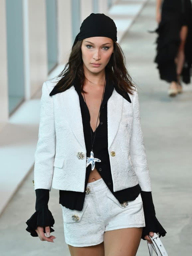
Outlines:
[{"label": "white textured jacket sleeve on the picture's left", "polygon": [[42,87],[40,101],[39,139],[35,152],[34,186],[36,189],[51,188],[56,138],[53,100],[49,96],[47,83]]}]

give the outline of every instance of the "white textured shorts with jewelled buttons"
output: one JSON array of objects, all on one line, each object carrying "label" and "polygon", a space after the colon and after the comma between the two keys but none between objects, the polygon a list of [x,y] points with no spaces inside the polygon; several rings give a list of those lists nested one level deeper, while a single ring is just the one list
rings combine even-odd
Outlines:
[{"label": "white textured shorts with jewelled buttons", "polygon": [[61,207],[65,242],[75,247],[100,244],[109,230],[145,226],[141,194],[121,205],[103,179],[87,184],[82,211]]}]

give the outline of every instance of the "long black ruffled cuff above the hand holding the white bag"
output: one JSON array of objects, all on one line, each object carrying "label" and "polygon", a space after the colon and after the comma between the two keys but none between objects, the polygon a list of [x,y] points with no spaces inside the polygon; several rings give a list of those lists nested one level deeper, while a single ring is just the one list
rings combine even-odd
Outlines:
[{"label": "long black ruffled cuff above the hand holding the white bag", "polygon": [[155,208],[153,205],[151,192],[141,191],[141,197],[145,217],[145,227],[143,228],[142,239],[144,239],[146,235],[149,235],[149,232],[158,233],[159,237],[165,236],[167,232],[164,230],[155,216]]}]

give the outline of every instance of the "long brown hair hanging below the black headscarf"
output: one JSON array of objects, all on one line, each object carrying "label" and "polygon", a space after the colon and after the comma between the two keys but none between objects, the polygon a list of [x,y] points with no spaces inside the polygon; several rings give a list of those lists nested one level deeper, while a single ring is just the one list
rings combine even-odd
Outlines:
[{"label": "long brown hair hanging below the black headscarf", "polygon": [[[82,41],[77,41],[73,46],[69,60],[65,65],[63,71],[57,76],[61,79],[57,82],[55,87],[58,91],[63,92],[72,86],[75,77],[78,78],[80,89],[83,92],[83,85],[85,75],[83,70],[83,60],[81,52]],[[125,56],[118,43],[114,41],[114,52],[106,66],[109,73],[110,80],[112,80],[121,91],[126,91],[133,94],[135,85],[132,83],[132,78],[125,67]]]}]

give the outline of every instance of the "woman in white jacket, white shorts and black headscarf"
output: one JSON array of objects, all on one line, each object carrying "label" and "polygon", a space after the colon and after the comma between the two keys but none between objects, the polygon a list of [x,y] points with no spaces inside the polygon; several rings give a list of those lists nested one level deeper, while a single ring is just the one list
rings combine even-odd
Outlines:
[{"label": "woman in white jacket, white shorts and black headscarf", "polygon": [[155,217],[137,90],[116,41],[114,21],[92,13],[64,70],[43,85],[27,231],[53,242],[52,185],[73,256],[136,255],[141,237],[166,233]]}]

